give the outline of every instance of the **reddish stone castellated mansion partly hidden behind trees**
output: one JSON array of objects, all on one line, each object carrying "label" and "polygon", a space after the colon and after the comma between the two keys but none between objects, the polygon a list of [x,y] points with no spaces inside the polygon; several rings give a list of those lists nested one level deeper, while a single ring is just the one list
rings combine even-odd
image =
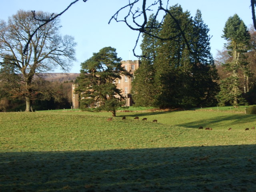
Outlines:
[{"label": "reddish stone castellated mansion partly hidden behind trees", "polygon": [[[134,74],[135,70],[140,66],[140,60],[126,60],[121,61],[122,66],[125,70],[130,71],[131,74]],[[122,75],[120,79],[116,79],[116,87],[121,90],[122,96],[126,98],[126,106],[132,106],[132,97],[130,95],[132,89],[132,78]],[[72,85],[72,107],[79,108],[79,95],[74,94],[74,89],[76,84]]]}]

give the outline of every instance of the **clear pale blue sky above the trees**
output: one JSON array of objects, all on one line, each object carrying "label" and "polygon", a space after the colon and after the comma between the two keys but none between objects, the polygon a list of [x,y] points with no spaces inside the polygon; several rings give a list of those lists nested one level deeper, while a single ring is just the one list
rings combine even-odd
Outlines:
[{"label": "clear pale blue sky above the trees", "polygon": [[[59,13],[72,1],[74,0],[0,0],[0,19],[7,21],[19,9]],[[73,36],[77,42],[77,61],[73,62],[69,72],[79,73],[81,62],[106,46],[116,48],[118,56],[123,60],[137,59],[132,49],[138,32],[114,20],[108,24],[112,15],[127,2],[128,0],[88,0],[84,3],[80,0],[60,17],[61,34]],[[228,17],[238,14],[248,28],[252,24],[250,0],[169,0],[170,6],[177,3],[184,11],[190,11],[191,16],[195,15],[197,9],[201,10],[204,23],[210,28],[214,57],[226,42],[221,35]],[[139,46],[136,53],[140,54]],[[62,71],[56,69],[54,72]]]}]

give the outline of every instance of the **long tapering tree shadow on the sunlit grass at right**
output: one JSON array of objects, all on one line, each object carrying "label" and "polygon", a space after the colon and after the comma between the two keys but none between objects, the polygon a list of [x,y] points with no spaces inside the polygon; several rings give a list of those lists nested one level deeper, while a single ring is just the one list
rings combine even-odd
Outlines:
[{"label": "long tapering tree shadow on the sunlit grass at right", "polygon": [[[176,124],[176,126],[187,127],[187,128],[198,128],[202,127],[212,127],[212,125],[221,127],[227,126],[227,121],[230,121],[230,125],[228,127],[232,127],[235,124],[247,124],[250,122],[255,122],[255,115],[245,115],[245,114],[234,114],[234,115],[224,115],[218,116],[214,118],[205,118],[203,121],[198,120],[194,122],[187,122],[182,124]],[[244,127],[247,128],[247,127]]]}]

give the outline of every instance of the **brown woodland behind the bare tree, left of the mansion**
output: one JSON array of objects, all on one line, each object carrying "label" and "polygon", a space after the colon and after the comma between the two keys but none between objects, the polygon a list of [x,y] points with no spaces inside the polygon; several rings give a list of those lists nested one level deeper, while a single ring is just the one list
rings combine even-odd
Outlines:
[{"label": "brown woodland behind the bare tree, left of the mansion", "polygon": [[[32,84],[33,110],[53,110],[71,108],[72,84],[78,74],[41,74],[34,78]],[[18,74],[1,73],[0,112],[24,111],[26,103],[21,92],[22,84],[16,84],[14,79]]]}]

